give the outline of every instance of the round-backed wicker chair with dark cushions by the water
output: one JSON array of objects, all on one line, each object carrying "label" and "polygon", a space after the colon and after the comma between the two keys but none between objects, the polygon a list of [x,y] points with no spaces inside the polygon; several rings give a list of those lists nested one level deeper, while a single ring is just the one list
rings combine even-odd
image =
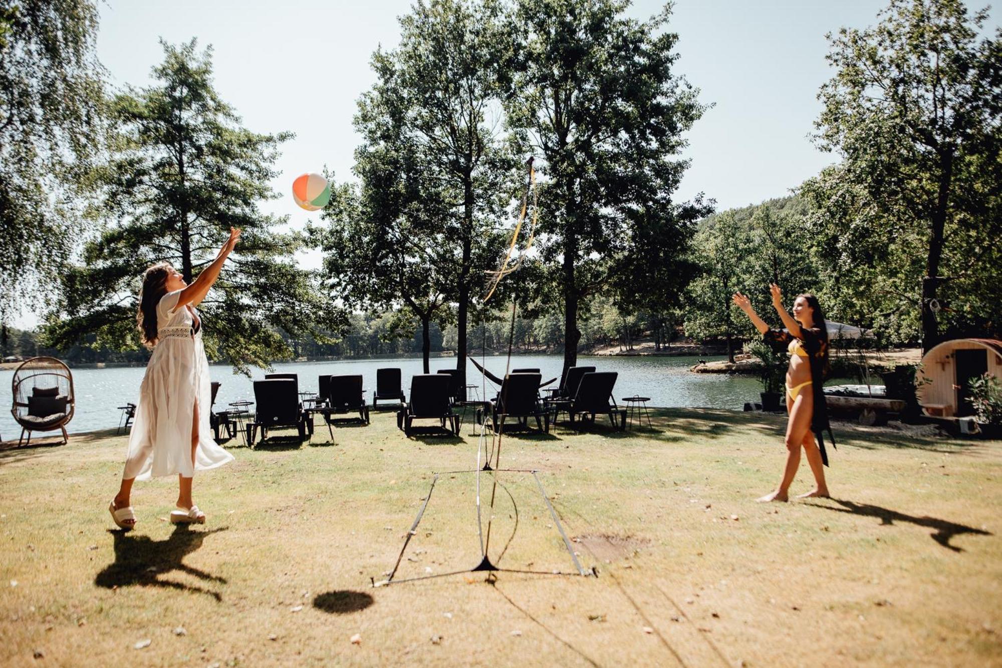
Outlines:
[{"label": "round-backed wicker chair with dark cushions by the water", "polygon": [[[14,371],[11,380],[14,405],[10,412],[21,425],[22,441],[31,441],[32,431],[54,431],[63,434],[63,444],[69,442],[66,424],[73,419],[76,398],[73,375],[69,367],[55,357],[32,357]],[[27,432],[28,439],[24,439]]]}]

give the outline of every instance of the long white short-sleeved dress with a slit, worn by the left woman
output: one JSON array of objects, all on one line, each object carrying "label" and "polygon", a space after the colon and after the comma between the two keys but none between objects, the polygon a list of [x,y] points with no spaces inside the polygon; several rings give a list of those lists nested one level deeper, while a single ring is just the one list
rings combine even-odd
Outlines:
[{"label": "long white short-sleeved dress with a slit, worn by the left woman", "polygon": [[[209,426],[211,386],[201,327],[191,311],[177,306],[180,290],[156,306],[157,342],[139,386],[139,401],[128,441],[122,477],[148,480],[221,466],[233,455],[212,440]],[[197,312],[195,312],[197,315]],[[200,319],[199,319],[200,325]],[[198,404],[198,447],[191,465],[191,421]]]}]

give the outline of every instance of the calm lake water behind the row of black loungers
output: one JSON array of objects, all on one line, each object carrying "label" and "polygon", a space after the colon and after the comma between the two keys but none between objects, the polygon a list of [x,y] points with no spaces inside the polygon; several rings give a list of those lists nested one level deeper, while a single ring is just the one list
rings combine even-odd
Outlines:
[{"label": "calm lake water behind the row of black loungers", "polygon": [[[702,359],[722,359],[704,357]],[[595,366],[599,371],[617,371],[613,395],[617,402],[624,396],[640,394],[649,396],[651,406],[665,407],[705,407],[730,408],[740,410],[745,401],[758,399],[762,389],[755,378],[727,376],[715,373],[690,373],[689,367],[696,363],[695,357],[578,357],[578,363]],[[480,361],[480,358],[477,358]],[[502,355],[489,356],[485,366],[496,376],[503,376],[506,358]],[[518,355],[511,359],[512,368],[538,367],[543,381],[560,377],[563,357],[559,355]],[[410,396],[410,379],[422,372],[420,359],[374,359],[345,360],[341,362],[290,362],[275,365],[276,372],[298,373],[301,390],[317,390],[317,378],[327,374],[362,374],[364,387],[369,390],[367,398],[372,401],[372,391],[376,388],[376,369],[384,366],[400,367],[403,373],[404,392]],[[433,358],[432,373],[438,369],[455,368],[452,357]],[[76,412],[67,425],[70,433],[106,429],[118,424],[121,414],[116,406],[127,402],[135,403],[139,396],[139,383],[145,371],[141,367],[121,367],[107,369],[73,369],[73,385],[76,391]],[[229,366],[209,367],[212,380],[221,383],[215,399],[215,409],[221,410],[230,401],[254,400],[254,379],[265,377],[265,371],[256,369],[253,378],[233,375]],[[0,371],[0,387],[10,387],[13,371]],[[469,364],[467,382],[477,384],[476,398],[483,398],[483,377]],[[556,386],[554,383],[553,386]],[[497,388],[486,381],[488,396],[494,396]],[[9,390],[8,390],[9,392]],[[10,401],[10,394],[7,395]],[[470,398],[474,391],[470,390]],[[621,403],[621,402],[620,402]],[[9,403],[8,403],[9,405]],[[0,415],[0,437],[17,438],[20,427],[8,410]]]}]

